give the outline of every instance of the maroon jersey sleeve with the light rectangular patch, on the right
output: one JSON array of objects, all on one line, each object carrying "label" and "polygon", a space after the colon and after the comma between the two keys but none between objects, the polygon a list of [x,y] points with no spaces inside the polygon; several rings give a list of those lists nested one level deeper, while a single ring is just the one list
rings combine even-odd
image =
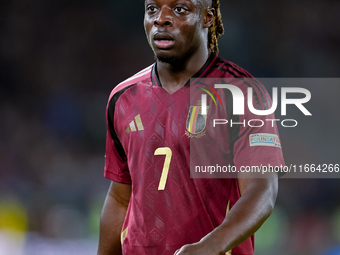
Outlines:
[{"label": "maroon jersey sleeve with the light rectangular patch, on the right", "polygon": [[[268,91],[255,78],[242,79],[238,83],[242,83],[239,88],[244,94],[245,106],[244,115],[231,115],[229,120],[232,123],[230,135],[234,165],[238,170],[251,167],[282,168],[284,166],[283,153],[274,113],[254,114],[247,103],[248,88],[251,88],[254,109],[270,109],[272,101]],[[282,171],[279,175],[281,173]]]}]

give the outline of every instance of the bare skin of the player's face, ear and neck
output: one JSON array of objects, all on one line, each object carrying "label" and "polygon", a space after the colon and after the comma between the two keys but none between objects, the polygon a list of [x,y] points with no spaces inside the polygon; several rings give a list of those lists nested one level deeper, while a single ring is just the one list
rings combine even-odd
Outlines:
[{"label": "bare skin of the player's face, ear and neck", "polygon": [[[205,8],[204,8],[205,7]],[[214,10],[198,0],[146,0],[144,27],[163,88],[173,93],[204,65]],[[169,47],[157,39],[171,39]]]}]

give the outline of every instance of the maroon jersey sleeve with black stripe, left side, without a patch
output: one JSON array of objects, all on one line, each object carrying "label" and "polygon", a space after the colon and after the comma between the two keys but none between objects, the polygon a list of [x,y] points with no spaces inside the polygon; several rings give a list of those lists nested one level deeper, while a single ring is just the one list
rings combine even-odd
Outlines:
[{"label": "maroon jersey sleeve with black stripe, left side, without a patch", "polygon": [[116,93],[110,97],[106,108],[107,134],[104,176],[115,182],[131,184],[127,158],[114,127],[114,113],[119,94]]}]

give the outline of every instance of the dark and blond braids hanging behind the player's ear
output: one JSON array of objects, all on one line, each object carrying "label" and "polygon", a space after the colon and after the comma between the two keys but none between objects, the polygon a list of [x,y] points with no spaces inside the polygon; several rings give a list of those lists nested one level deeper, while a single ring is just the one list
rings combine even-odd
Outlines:
[{"label": "dark and blond braids hanging behind the player's ear", "polygon": [[211,52],[214,52],[216,55],[218,54],[218,43],[217,39],[224,33],[223,23],[222,23],[222,15],[220,11],[220,1],[212,0],[212,8],[215,9],[215,19],[212,26],[209,28],[208,33],[208,49]]}]

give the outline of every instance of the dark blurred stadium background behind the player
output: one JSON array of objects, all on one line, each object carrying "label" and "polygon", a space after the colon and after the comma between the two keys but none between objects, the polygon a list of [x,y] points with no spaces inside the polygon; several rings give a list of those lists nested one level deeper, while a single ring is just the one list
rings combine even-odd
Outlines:
[{"label": "dark blurred stadium background behind the player", "polygon": [[[106,101],[154,61],[143,5],[1,1],[1,255],[96,254]],[[222,1],[220,55],[256,77],[339,77],[339,13],[338,0]],[[334,103],[325,125],[281,129],[287,162],[339,163],[339,129],[325,129],[340,124],[339,95],[318,98]],[[339,201],[339,179],[281,179],[256,254],[340,254]]]}]

